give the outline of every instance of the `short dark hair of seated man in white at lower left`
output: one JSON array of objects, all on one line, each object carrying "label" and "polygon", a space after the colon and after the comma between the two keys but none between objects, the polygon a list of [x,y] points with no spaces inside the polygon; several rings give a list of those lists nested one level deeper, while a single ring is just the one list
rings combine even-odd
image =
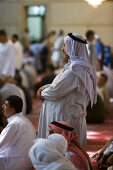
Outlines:
[{"label": "short dark hair of seated man in white at lower left", "polygon": [[15,109],[16,113],[22,112],[23,101],[19,96],[12,95],[6,100],[9,102],[9,106]]}]

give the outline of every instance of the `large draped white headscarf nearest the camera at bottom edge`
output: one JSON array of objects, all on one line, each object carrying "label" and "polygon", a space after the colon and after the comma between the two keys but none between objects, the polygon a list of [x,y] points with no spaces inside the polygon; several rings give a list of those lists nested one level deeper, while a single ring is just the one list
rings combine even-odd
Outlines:
[{"label": "large draped white headscarf nearest the camera at bottom edge", "polygon": [[36,170],[76,170],[48,139],[37,139],[29,151],[29,157]]}]

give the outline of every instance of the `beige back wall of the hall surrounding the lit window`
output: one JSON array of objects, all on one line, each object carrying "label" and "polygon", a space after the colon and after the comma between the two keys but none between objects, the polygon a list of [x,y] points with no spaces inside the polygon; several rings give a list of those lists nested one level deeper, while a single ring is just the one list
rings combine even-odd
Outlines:
[{"label": "beige back wall of the hall surrounding the lit window", "polygon": [[113,46],[113,2],[105,2],[97,9],[83,0],[2,0],[0,1],[0,28],[9,35],[22,34],[26,25],[25,6],[46,6],[45,31],[63,29],[85,35],[87,29],[98,33],[105,44]]}]

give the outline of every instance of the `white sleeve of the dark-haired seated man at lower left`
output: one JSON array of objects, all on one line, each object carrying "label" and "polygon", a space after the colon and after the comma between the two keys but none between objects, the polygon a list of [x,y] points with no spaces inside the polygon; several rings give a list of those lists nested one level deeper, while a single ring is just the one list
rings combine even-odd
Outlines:
[{"label": "white sleeve of the dark-haired seated man at lower left", "polygon": [[17,126],[14,124],[7,125],[0,134],[0,149],[5,149],[15,143],[17,140]]}]

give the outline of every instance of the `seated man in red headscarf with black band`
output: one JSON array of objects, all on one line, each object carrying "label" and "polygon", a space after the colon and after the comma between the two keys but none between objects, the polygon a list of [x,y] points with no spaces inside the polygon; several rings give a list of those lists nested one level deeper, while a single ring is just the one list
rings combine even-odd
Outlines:
[{"label": "seated man in red headscarf with black band", "polygon": [[[77,134],[67,122],[53,121],[51,124],[49,124],[49,128],[49,135],[52,133],[57,133],[63,135],[66,138],[68,142],[68,148],[65,156],[72,161],[77,170],[93,169],[87,152],[82,148],[78,141]],[[48,136],[48,139],[50,139],[50,136]]]}]

